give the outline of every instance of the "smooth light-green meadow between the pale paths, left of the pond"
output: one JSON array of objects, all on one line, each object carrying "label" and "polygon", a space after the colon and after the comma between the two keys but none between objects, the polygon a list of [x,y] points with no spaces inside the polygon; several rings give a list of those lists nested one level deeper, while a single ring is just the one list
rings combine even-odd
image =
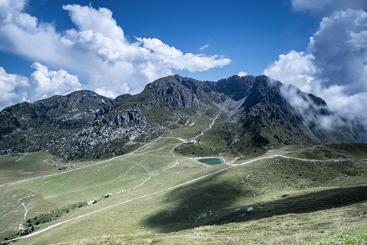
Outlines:
[{"label": "smooth light-green meadow between the pale paths, left of the pond", "polygon": [[10,189],[27,190],[43,198],[39,205],[30,211],[36,215],[51,204],[54,208],[90,201],[121,190],[132,189],[150,176],[159,173],[173,160],[171,156],[125,155],[100,164],[76,168],[73,171],[47,176],[26,182],[9,185]]}]

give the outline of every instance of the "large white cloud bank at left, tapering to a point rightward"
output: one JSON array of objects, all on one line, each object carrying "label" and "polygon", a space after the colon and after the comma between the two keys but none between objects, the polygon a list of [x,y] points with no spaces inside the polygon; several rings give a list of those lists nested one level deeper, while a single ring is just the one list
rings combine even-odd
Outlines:
[{"label": "large white cloud bank at left, tapering to a point rightward", "polygon": [[[0,50],[37,61],[32,65],[36,71],[28,79],[1,68],[0,85],[6,90],[0,109],[75,89],[112,98],[136,94],[154,79],[172,74],[172,69],[206,71],[231,61],[217,55],[184,54],[156,38],[129,42],[106,8],[62,6],[75,28],[58,32],[53,23],[24,13],[25,4],[25,0],[0,2]],[[50,71],[46,66],[62,69]],[[75,74],[86,77],[83,86]],[[61,84],[69,88],[62,89]]]}]

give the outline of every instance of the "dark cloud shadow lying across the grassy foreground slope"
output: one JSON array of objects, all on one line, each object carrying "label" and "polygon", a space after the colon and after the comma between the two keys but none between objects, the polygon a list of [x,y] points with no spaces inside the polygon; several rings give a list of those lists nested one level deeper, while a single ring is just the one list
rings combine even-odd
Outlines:
[{"label": "dark cloud shadow lying across the grassy foreground slope", "polygon": [[213,177],[210,181],[204,179],[170,191],[162,200],[166,208],[147,217],[142,224],[165,233],[201,225],[221,225],[273,215],[315,212],[367,200],[367,186],[307,191],[310,193],[285,195],[264,204],[252,204],[253,210],[247,211],[251,206],[233,207],[232,204],[239,198],[243,200],[249,197],[238,195],[230,185]]}]

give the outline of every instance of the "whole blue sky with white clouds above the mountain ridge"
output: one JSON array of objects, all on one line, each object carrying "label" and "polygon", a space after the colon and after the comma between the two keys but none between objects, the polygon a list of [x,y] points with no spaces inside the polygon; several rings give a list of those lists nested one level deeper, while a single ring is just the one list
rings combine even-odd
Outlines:
[{"label": "whole blue sky with white clouds above the mountain ridge", "polygon": [[0,10],[0,109],[80,89],[136,94],[176,73],[266,74],[367,116],[364,0],[0,0]]}]

